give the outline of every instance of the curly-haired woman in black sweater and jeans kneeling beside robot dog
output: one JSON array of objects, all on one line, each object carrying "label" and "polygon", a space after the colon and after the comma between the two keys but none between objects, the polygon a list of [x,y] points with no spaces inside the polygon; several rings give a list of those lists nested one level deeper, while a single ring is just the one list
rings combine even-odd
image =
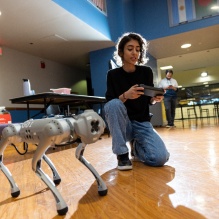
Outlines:
[{"label": "curly-haired woman in black sweater and jeans kneeling beside robot dog", "polygon": [[116,45],[114,58],[121,67],[107,74],[104,106],[105,118],[112,135],[112,150],[117,155],[118,170],[132,169],[127,141],[133,141],[133,154],[146,165],[163,166],[169,152],[150,123],[149,105],[163,96],[148,97],[139,84],[154,86],[153,72],[146,63],[147,42],[136,33],[126,33]]}]

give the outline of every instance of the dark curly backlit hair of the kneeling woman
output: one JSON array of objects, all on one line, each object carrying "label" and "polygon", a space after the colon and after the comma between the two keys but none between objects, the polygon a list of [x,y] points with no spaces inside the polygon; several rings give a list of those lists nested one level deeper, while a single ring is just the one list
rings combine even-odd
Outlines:
[{"label": "dark curly backlit hair of the kneeling woman", "polygon": [[131,33],[123,34],[117,40],[116,51],[113,54],[113,58],[115,59],[117,65],[122,66],[122,63],[123,63],[122,54],[124,52],[124,47],[126,43],[128,43],[131,40],[137,40],[140,45],[140,56],[137,62],[138,65],[147,63],[148,58],[146,57],[146,52],[147,52],[148,43],[146,39],[142,37],[140,34],[131,32]]}]

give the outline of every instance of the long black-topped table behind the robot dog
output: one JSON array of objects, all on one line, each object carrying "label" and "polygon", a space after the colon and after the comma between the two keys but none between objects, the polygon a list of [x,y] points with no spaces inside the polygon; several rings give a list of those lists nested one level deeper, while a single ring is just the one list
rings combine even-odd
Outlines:
[{"label": "long black-topped table behind the robot dog", "polygon": [[46,108],[51,105],[59,106],[91,106],[93,104],[102,104],[106,102],[105,97],[77,95],[77,94],[58,94],[53,92],[39,93],[35,95],[23,96],[10,99],[13,104],[26,104],[27,117],[30,118],[30,104],[43,105],[44,113]]}]

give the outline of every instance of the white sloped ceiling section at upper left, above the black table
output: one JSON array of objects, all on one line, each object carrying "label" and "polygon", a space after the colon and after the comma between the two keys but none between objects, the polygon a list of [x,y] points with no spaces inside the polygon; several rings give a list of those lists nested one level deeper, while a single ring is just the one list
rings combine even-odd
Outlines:
[{"label": "white sloped ceiling section at upper left, above the black table", "polygon": [[114,43],[51,0],[0,0],[0,46],[86,70]]}]

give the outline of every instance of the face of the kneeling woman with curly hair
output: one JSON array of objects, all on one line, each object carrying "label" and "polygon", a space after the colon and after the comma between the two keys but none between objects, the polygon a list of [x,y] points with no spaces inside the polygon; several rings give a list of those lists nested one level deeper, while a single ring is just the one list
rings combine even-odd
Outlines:
[{"label": "face of the kneeling woman with curly hair", "polygon": [[137,40],[130,40],[124,46],[124,51],[121,54],[123,65],[135,65],[140,56],[140,45]]}]

